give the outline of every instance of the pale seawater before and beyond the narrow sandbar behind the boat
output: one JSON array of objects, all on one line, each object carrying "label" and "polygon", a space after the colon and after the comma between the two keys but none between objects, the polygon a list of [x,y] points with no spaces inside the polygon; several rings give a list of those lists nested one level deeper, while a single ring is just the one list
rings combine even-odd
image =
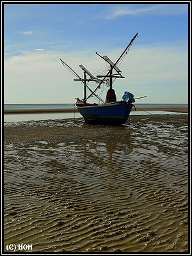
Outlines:
[{"label": "pale seawater before and beyond the narrow sandbar behind the boat", "polygon": [[[188,107],[188,104],[134,104],[137,111],[132,109],[130,115],[163,115],[164,111],[156,111],[153,108],[158,107]],[[142,108],[151,108],[150,111],[144,111]],[[31,113],[22,113],[22,111],[31,110]],[[74,111],[62,113],[33,113],[34,109],[74,109]],[[19,110],[21,113],[4,113],[4,122],[20,122],[28,120],[46,120],[46,119],[60,119],[60,118],[81,118],[82,116],[76,111],[75,104],[4,104],[4,111]],[[166,114],[178,115],[176,112],[168,112]]]}]

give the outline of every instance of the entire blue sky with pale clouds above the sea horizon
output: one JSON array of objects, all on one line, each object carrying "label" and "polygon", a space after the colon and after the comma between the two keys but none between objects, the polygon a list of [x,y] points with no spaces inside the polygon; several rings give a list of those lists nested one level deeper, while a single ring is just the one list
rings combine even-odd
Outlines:
[{"label": "entire blue sky with pale clouds above the sea horizon", "polygon": [[[4,2],[4,103],[83,99],[60,58],[79,76],[81,64],[97,76],[106,63],[95,52],[115,61],[136,33],[119,67],[125,79],[113,84],[117,99],[128,91],[147,95],[136,103],[188,103],[189,3]],[[97,93],[105,99],[107,90]]]}]

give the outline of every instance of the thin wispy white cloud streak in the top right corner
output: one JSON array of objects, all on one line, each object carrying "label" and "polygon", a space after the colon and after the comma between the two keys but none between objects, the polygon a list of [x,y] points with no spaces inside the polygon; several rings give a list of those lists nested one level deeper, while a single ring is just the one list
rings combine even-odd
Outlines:
[{"label": "thin wispy white cloud streak in the top right corner", "polygon": [[188,4],[123,4],[110,10],[105,19],[115,19],[122,15],[178,15],[188,13]]}]

